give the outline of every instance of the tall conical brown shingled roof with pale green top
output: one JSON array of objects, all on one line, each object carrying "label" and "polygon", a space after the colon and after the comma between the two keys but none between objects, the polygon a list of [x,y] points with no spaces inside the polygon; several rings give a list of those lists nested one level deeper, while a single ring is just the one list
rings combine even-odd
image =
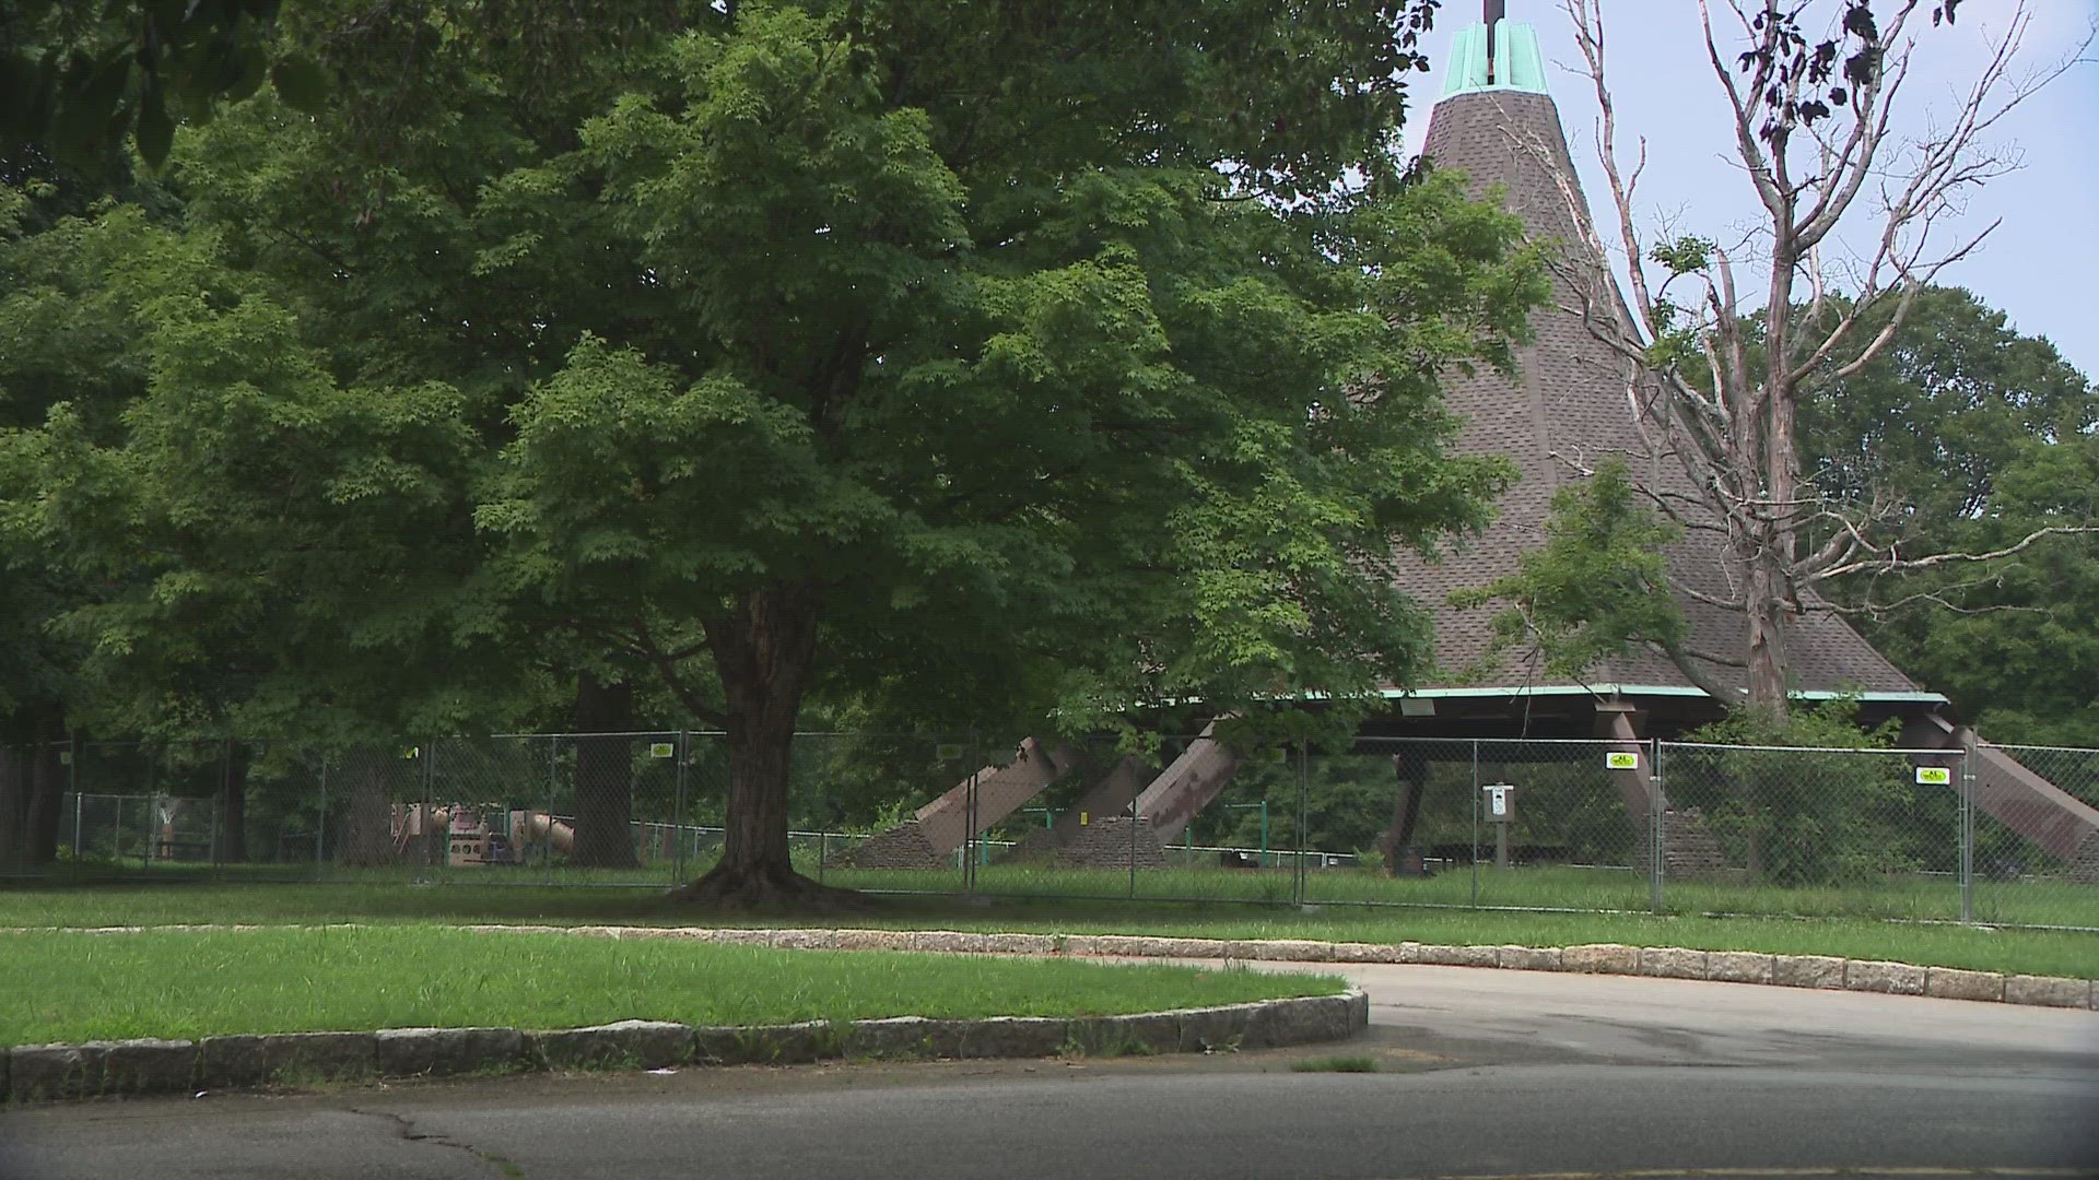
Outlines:
[{"label": "tall conical brown shingled roof with pale green top", "polygon": [[[1499,46],[1534,42],[1522,25],[1501,23]],[[1513,36],[1511,36],[1513,34]],[[1532,50],[1534,52],[1534,50]],[[1473,67],[1478,73],[1478,65]],[[1511,78],[1513,76],[1513,78]],[[1560,111],[1543,80],[1522,69],[1501,71],[1497,84],[1478,86],[1478,78],[1453,80],[1453,92],[1429,115],[1423,153],[1438,168],[1465,172],[1476,195],[1503,191],[1511,212],[1522,216],[1528,233],[1562,244],[1562,269],[1602,275],[1591,290],[1612,292],[1610,315],[1625,315],[1614,281],[1591,246],[1589,208],[1568,155]],[[1518,556],[1545,544],[1545,521],[1557,487],[1578,479],[1578,470],[1610,454],[1623,454],[1635,479],[1669,496],[1671,502],[1696,502],[1696,489],[1673,458],[1654,462],[1646,454],[1635,409],[1627,397],[1625,361],[1583,321],[1574,283],[1553,277],[1553,294],[1532,313],[1534,342],[1520,349],[1518,376],[1509,380],[1494,372],[1476,376],[1453,374],[1444,395],[1455,414],[1465,420],[1459,451],[1492,451],[1507,456],[1520,468],[1520,481],[1499,502],[1499,519],[1465,552],[1427,563],[1413,554],[1398,561],[1400,586],[1436,611],[1436,661],[1442,670],[1423,689],[1497,687],[1545,689],[1581,687],[1547,676],[1534,651],[1507,651],[1486,680],[1461,680],[1461,670],[1473,668],[1488,647],[1497,607],[1457,611],[1448,596],[1459,588],[1486,586],[1518,567]],[[1717,538],[1688,531],[1669,550],[1673,577],[1704,594],[1730,596],[1725,565]],[[1738,611],[1677,594],[1692,626],[1692,647],[1732,659],[1746,655],[1746,624]],[[1835,613],[1809,611],[1795,619],[1788,636],[1790,670],[1797,691],[1860,691],[1866,695],[1916,695],[1918,687],[1877,653],[1851,626]],[[1740,668],[1706,666],[1711,678],[1723,684],[1744,684]],[[1623,691],[1665,689],[1685,691],[1694,684],[1660,655],[1627,653],[1589,672],[1589,687]]]}]

